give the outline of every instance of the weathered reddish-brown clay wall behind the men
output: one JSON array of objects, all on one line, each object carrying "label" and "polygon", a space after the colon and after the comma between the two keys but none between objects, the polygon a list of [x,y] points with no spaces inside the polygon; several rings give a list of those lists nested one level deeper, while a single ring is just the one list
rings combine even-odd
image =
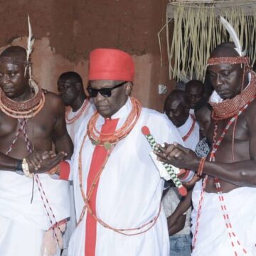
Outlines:
[{"label": "weathered reddish-brown clay wall behind the men", "polygon": [[[94,48],[119,48],[136,65],[133,95],[145,107],[162,109],[168,83],[167,65],[160,67],[156,33],[165,21],[167,0],[12,0],[1,4],[0,47],[26,45],[26,14],[36,43],[34,75],[42,87],[56,91],[58,75],[78,71],[87,83],[87,58]],[[163,38],[164,39],[164,38]],[[165,62],[166,63],[166,62]],[[171,89],[171,85],[169,85]]]}]

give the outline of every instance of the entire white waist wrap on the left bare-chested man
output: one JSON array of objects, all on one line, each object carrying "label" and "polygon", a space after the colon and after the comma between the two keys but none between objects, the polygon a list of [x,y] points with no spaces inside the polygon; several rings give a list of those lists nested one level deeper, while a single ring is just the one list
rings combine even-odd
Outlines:
[{"label": "entire white waist wrap on the left bare-chested man", "polygon": [[[59,222],[70,216],[68,182],[39,174],[43,191],[55,219],[45,202],[51,220]],[[52,224],[43,206],[35,181],[11,171],[0,171],[0,255],[41,256],[43,235]],[[58,252],[60,255],[60,251]]]}]

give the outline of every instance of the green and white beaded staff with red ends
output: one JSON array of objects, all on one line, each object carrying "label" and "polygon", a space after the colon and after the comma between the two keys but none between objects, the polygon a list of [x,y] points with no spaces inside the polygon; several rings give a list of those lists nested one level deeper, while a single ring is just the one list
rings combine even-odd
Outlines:
[{"label": "green and white beaded staff with red ends", "polygon": [[[157,147],[156,140],[154,137],[151,135],[149,131],[149,127],[142,127],[142,134],[146,137],[147,141],[149,142],[149,145],[151,148],[155,151],[160,151],[159,148]],[[178,188],[178,193],[181,194],[181,196],[186,196],[187,190],[186,188],[182,185],[180,179],[178,178],[177,174],[174,171],[174,167],[171,164],[166,164],[161,161],[161,164],[164,166],[168,174],[171,176],[171,180],[174,182],[174,185]]]}]

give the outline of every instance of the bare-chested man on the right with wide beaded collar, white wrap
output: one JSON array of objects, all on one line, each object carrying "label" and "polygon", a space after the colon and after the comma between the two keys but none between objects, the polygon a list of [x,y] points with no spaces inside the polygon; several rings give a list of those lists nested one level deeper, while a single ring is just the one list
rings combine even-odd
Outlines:
[{"label": "bare-chested man on the right with wide beaded collar, white wrap", "polygon": [[192,196],[193,256],[256,255],[256,75],[233,43],[213,50],[208,70],[212,151],[205,161],[171,144],[159,159],[203,174]]}]

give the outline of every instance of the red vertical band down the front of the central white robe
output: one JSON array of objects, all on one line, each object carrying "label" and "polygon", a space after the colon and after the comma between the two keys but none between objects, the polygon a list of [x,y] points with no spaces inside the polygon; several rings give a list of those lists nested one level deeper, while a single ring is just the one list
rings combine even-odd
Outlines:
[{"label": "red vertical band down the front of the central white robe", "polygon": [[[105,124],[102,125],[101,132],[114,132],[117,127],[118,120],[119,119],[105,119]],[[87,195],[89,193],[90,186],[92,186],[92,182],[95,180],[95,176],[97,175],[98,171],[100,171],[106,157],[107,150],[105,149],[105,147],[99,145],[95,146],[95,150],[92,154],[89,174],[87,176]],[[100,179],[95,184],[95,188],[92,191],[92,195],[89,201],[93,213],[96,213],[96,197],[99,181]],[[90,215],[90,213],[87,212],[85,230],[85,256],[95,256],[96,236],[97,221],[95,220],[95,218],[92,217],[92,215]]]}]

